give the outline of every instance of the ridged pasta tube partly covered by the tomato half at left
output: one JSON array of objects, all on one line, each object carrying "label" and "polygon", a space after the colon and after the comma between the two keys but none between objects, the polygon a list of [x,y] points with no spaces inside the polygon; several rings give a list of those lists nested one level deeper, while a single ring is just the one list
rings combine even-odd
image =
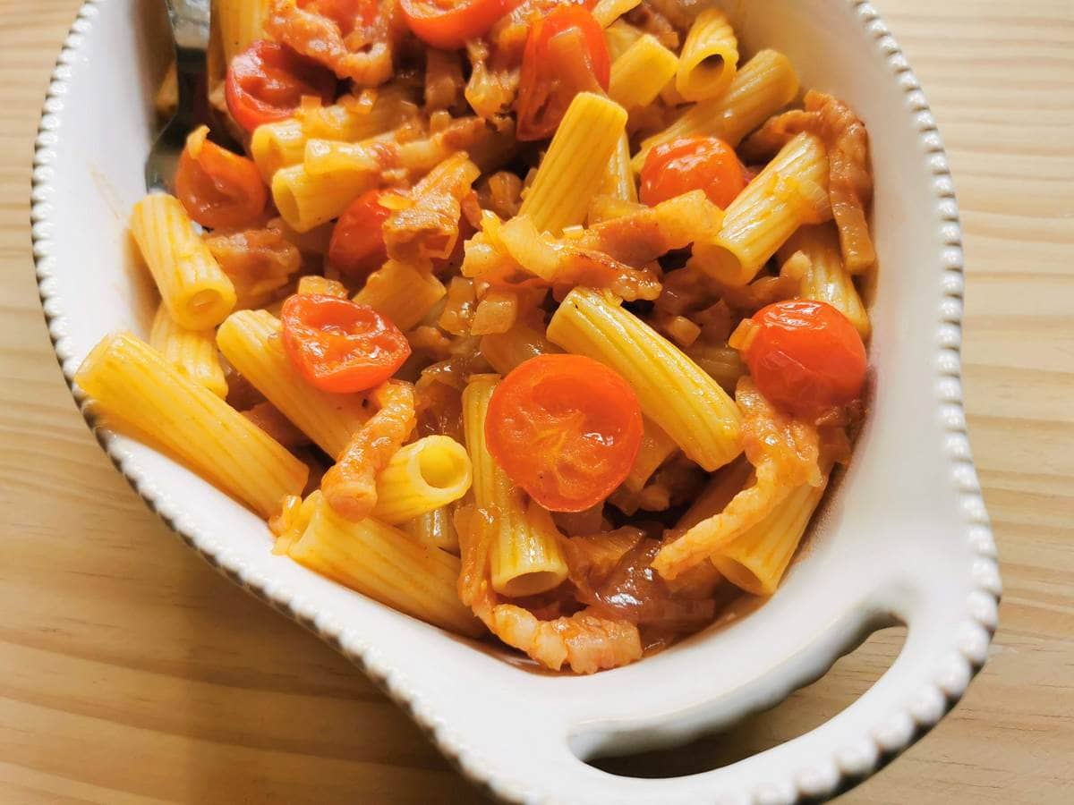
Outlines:
[{"label": "ridged pasta tube partly covered by the tomato half at left", "polygon": [[284,352],[279,320],[240,310],[216,334],[223,356],[255,389],[333,458],[369,419],[357,394],[330,394],[307,383]]}]

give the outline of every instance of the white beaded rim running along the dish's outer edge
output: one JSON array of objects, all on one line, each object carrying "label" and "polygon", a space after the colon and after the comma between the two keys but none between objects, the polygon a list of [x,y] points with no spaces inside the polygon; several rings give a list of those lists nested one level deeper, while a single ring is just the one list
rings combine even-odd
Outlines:
[{"label": "white beaded rim running along the dish's outer edge", "polygon": [[[358,665],[374,684],[406,711],[444,756],[471,782],[505,802],[533,801],[536,791],[527,790],[524,785],[497,776],[493,771],[482,767],[480,759],[468,750],[465,741],[452,734],[450,727],[436,718],[435,708],[408,689],[404,675],[387,665],[378,657],[374,646],[365,644],[339,624],[319,620],[317,612],[303,611],[301,600],[290,591],[281,589],[278,585],[268,585],[264,580],[246,576],[241,568],[228,561],[227,552],[216,553],[203,546],[201,543],[204,540],[197,530],[184,524],[182,512],[166,508],[159,499],[151,482],[125,466],[124,456],[115,450],[111,434],[96,426],[95,418],[85,405],[84,396],[75,390],[73,371],[66,366],[72,353],[63,335],[64,314],[54,301],[50,236],[47,234],[50,213],[47,197],[52,189],[53,161],[49,149],[56,142],[52,132],[58,128],[62,116],[61,99],[67,91],[72,65],[76,62],[78,48],[99,13],[97,5],[102,1],[84,0],[56,59],[34,143],[30,194],[33,262],[42,310],[63,379],[78,404],[86,423],[134,492],[199,556],[240,587],[316,633]],[[998,609],[1002,591],[996,543],[973,466],[962,405],[960,348],[964,261],[958,203],[943,140],[920,83],[872,3],[868,0],[842,0],[842,2],[852,6],[866,35],[873,41],[885,58],[891,75],[906,94],[919,144],[933,177],[932,192],[937,200],[935,225],[944,244],[942,278],[944,293],[938,310],[935,332],[937,402],[945,427],[943,452],[950,462],[952,474],[960,495],[967,537],[977,555],[972,568],[975,588],[971,594],[971,618],[963,621],[950,638],[952,655],[959,659],[960,668],[948,668],[948,673],[944,674],[943,678],[932,682],[926,689],[918,690],[916,696],[908,697],[906,701],[916,702],[917,706],[908,704],[902,711],[888,714],[872,730],[861,735],[861,740],[870,745],[872,762],[862,762],[865,759],[860,757],[842,757],[839,750],[833,749],[828,757],[817,759],[811,770],[798,770],[796,774],[788,776],[784,781],[786,785],[770,782],[750,792],[749,801],[758,803],[767,801],[777,791],[781,794],[793,791],[792,801],[795,803],[803,800],[828,800],[871,776],[918,741],[955,706],[972,678],[984,665],[988,646],[998,626]],[[967,624],[970,626],[969,629],[961,628]],[[987,638],[985,640],[979,638],[982,629]],[[836,779],[831,778],[831,770],[837,772]]]}]

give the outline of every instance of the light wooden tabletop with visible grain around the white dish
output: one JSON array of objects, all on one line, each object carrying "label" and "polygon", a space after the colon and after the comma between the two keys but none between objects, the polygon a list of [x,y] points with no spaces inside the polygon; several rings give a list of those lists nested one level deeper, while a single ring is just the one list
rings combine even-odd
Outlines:
[{"label": "light wooden tabletop with visible grain around the white dish", "polygon": [[[844,801],[1071,802],[1074,0],[877,4],[932,102],[962,203],[966,393],[1005,596],[967,698]],[[474,801],[360,673],[183,547],[68,395],[27,195],[77,5],[0,0],[0,802]],[[898,645],[877,635],[730,748],[668,767],[800,733],[860,694]]]}]

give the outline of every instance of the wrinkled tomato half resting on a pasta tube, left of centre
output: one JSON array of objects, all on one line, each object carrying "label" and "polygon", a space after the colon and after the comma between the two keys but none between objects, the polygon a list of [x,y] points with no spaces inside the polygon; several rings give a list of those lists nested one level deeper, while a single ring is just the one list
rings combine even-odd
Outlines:
[{"label": "wrinkled tomato half resting on a pasta tube, left of centre", "polygon": [[410,345],[398,327],[368,305],[338,296],[290,296],[280,320],[288,357],[322,392],[373,389],[410,356]]}]

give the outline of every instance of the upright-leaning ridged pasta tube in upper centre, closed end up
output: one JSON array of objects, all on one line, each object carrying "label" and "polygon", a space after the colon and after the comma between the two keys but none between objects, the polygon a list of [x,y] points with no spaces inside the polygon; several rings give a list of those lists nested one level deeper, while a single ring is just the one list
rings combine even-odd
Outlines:
[{"label": "upright-leaning ridged pasta tube in upper centre, closed end up", "polygon": [[522,201],[538,232],[558,235],[585,221],[605,169],[626,128],[626,111],[593,92],[579,92],[567,107],[537,176]]}]

